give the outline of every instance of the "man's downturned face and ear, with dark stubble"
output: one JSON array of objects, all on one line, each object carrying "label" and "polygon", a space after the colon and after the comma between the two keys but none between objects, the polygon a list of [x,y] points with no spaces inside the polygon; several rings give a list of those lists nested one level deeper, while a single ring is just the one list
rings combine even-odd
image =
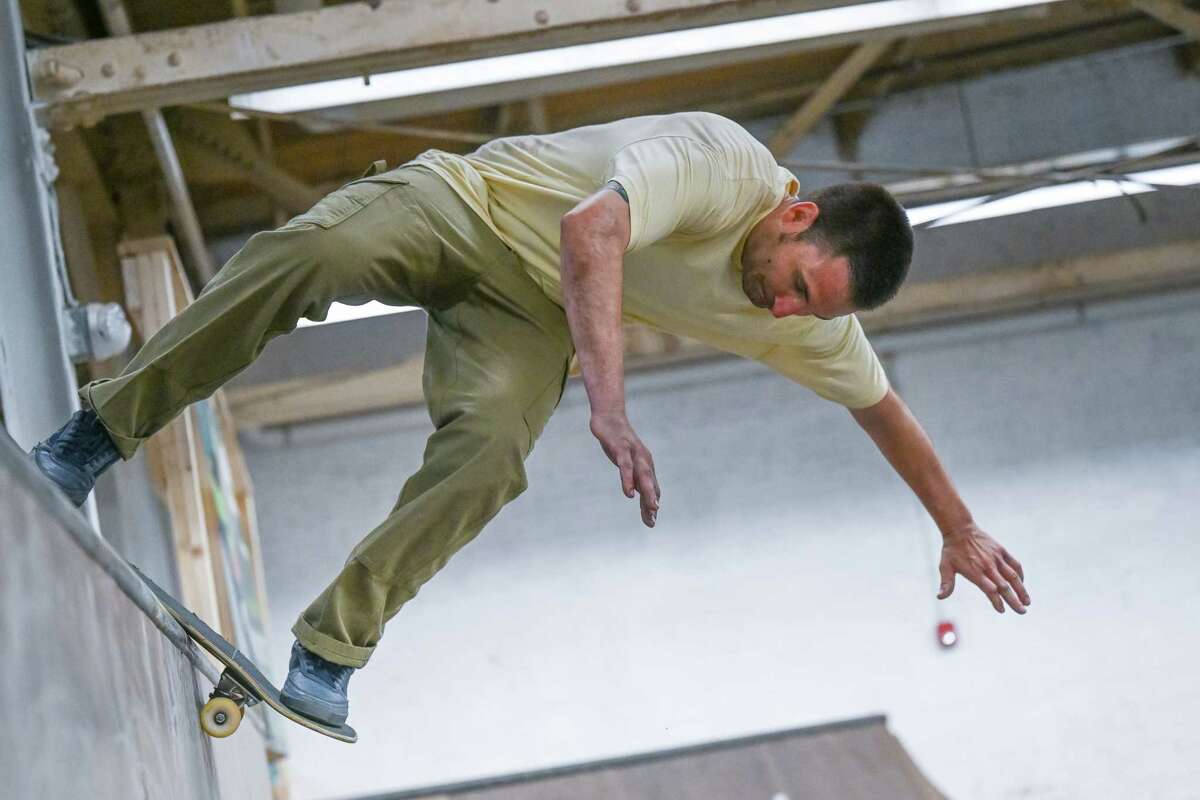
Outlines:
[{"label": "man's downturned face and ear, with dark stubble", "polygon": [[854,312],[850,260],[815,242],[796,241],[818,213],[812,203],[787,199],[746,237],[742,291],[776,318],[833,319]]}]

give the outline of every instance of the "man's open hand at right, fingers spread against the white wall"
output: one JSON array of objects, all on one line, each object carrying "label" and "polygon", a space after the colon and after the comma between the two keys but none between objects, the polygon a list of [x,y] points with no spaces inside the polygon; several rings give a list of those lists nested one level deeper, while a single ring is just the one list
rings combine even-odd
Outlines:
[{"label": "man's open hand at right, fingers spread against the white wall", "polygon": [[1025,570],[1020,561],[978,525],[971,524],[946,536],[938,571],[942,576],[938,600],[950,596],[954,591],[954,575],[959,573],[979,587],[1001,614],[1004,613],[1004,603],[1018,614],[1024,614],[1030,604],[1030,593],[1025,590]]}]

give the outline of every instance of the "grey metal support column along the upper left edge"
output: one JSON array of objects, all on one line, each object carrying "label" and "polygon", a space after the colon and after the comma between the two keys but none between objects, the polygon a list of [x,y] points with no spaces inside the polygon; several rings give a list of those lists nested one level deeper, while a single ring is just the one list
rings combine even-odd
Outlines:
[{"label": "grey metal support column along the upper left edge", "polygon": [[0,0],[0,409],[22,447],[79,408],[64,342],[54,203],[30,112],[17,0]]}]

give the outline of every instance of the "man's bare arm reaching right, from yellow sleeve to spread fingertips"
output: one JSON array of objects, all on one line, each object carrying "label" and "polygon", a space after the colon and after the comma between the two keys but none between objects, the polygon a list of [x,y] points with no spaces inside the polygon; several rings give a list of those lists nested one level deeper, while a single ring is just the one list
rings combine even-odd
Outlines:
[{"label": "man's bare arm reaching right, from yellow sleeve to spread fingertips", "polygon": [[954,575],[959,573],[979,587],[997,612],[1004,613],[1007,602],[1024,614],[1030,604],[1025,571],[1008,551],[976,525],[942,469],[932,443],[900,396],[889,389],[875,405],[850,413],[942,531],[942,585],[937,596],[942,600],[950,596]]}]

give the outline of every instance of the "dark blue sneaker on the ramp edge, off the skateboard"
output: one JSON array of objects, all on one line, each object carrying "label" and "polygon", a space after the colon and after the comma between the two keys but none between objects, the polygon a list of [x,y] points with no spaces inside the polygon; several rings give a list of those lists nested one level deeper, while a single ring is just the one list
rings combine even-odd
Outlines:
[{"label": "dark blue sneaker on the ramp edge, off the skateboard", "polygon": [[42,475],[54,481],[79,507],[101,473],[121,458],[108,431],[92,410],[76,411],[67,423],[30,451]]}]

